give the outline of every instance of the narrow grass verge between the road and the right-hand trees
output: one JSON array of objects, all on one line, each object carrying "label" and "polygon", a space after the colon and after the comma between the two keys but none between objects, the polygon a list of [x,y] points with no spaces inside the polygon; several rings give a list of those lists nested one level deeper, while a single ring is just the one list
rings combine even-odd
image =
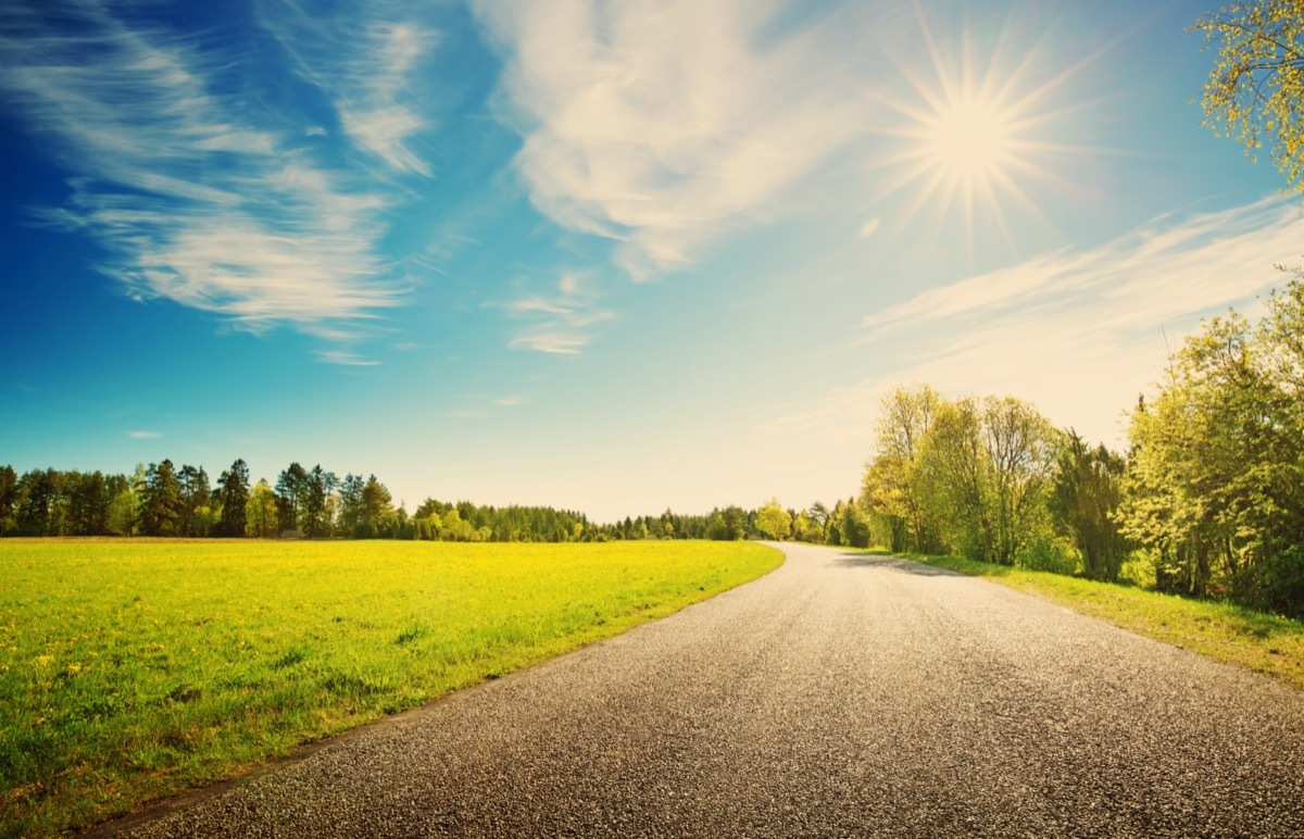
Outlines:
[{"label": "narrow grass verge between the road and the right-hand trees", "polygon": [[[871,549],[871,553],[889,552]],[[1241,664],[1304,690],[1304,622],[1254,612],[1230,603],[1193,600],[1134,586],[1102,583],[1022,568],[957,557],[896,553],[917,562],[986,577],[1039,595],[1115,626],[1193,650],[1219,662]]]}]

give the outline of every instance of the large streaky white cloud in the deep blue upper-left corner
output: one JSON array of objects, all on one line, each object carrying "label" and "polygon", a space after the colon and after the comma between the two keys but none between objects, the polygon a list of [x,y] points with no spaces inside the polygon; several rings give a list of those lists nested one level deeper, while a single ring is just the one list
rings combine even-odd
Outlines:
[{"label": "large streaky white cloud in the deep blue upper-left corner", "polygon": [[0,10],[0,97],[76,172],[44,218],[94,236],[130,295],[248,330],[330,337],[395,305],[404,286],[379,253],[394,196],[321,163],[312,125],[230,93],[246,59],[120,12]]}]

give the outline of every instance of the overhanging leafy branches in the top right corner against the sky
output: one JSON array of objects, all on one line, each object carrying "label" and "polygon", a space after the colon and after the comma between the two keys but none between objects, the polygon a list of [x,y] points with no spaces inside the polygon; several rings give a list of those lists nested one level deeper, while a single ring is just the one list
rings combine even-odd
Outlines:
[{"label": "overhanging leafy branches in the top right corner against the sky", "polygon": [[1236,0],[1193,26],[1218,59],[1205,82],[1206,124],[1253,158],[1265,140],[1288,189],[1304,191],[1304,3]]}]

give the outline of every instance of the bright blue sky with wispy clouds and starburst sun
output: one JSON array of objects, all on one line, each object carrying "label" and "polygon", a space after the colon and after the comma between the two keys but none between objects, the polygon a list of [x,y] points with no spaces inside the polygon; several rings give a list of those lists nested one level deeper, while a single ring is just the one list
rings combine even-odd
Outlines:
[{"label": "bright blue sky with wispy clouds and starburst sun", "polygon": [[1205,9],[7,0],[0,462],[610,522],[850,497],[898,384],[1121,446],[1304,252]]}]

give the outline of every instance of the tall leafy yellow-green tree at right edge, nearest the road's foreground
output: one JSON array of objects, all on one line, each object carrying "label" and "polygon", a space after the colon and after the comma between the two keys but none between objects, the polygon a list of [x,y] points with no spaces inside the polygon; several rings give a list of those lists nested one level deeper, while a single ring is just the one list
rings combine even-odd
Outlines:
[{"label": "tall leafy yellow-green tree at right edge, nearest the road's foreground", "polygon": [[1206,322],[1132,414],[1121,525],[1163,590],[1304,612],[1297,292],[1274,296],[1257,330],[1235,312]]}]

